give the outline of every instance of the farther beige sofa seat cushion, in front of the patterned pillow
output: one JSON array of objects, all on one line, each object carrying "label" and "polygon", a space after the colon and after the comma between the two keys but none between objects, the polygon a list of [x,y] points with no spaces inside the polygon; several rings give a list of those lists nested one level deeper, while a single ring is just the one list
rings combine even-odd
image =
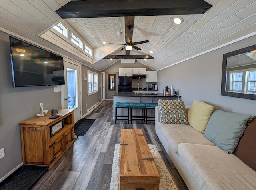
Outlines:
[{"label": "farther beige sofa seat cushion, in front of the patterned pillow", "polygon": [[208,140],[204,134],[198,132],[190,125],[164,124],[158,122],[157,127],[160,135],[165,138],[172,151],[176,154],[178,154],[178,144],[183,142],[215,146],[215,144]]}]

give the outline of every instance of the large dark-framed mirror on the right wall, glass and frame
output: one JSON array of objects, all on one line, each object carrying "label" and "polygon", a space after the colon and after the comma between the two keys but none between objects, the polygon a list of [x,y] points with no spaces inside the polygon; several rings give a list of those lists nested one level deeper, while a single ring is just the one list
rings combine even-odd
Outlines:
[{"label": "large dark-framed mirror on the right wall, glass and frame", "polygon": [[223,55],[221,95],[256,100],[256,45]]}]

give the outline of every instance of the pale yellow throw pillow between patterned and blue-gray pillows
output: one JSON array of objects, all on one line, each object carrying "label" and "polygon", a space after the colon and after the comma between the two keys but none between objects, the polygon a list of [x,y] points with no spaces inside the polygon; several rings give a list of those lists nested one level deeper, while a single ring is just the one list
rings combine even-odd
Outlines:
[{"label": "pale yellow throw pillow between patterned and blue-gray pillows", "polygon": [[206,125],[212,112],[214,111],[214,106],[194,100],[192,106],[188,110],[188,122],[190,126],[204,133]]}]

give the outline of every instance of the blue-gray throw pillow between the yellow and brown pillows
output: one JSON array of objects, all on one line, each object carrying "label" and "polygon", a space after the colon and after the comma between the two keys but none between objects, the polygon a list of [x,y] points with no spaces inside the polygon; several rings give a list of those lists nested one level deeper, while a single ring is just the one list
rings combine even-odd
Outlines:
[{"label": "blue-gray throw pillow between the yellow and brown pillows", "polygon": [[233,153],[250,118],[250,115],[215,110],[206,126],[204,136],[225,152]]}]

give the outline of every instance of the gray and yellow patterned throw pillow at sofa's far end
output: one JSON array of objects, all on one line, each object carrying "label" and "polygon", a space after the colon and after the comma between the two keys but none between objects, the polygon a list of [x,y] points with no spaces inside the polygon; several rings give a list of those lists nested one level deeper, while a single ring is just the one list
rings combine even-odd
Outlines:
[{"label": "gray and yellow patterned throw pillow at sofa's far end", "polygon": [[188,115],[182,100],[158,100],[160,122],[188,125]]}]

